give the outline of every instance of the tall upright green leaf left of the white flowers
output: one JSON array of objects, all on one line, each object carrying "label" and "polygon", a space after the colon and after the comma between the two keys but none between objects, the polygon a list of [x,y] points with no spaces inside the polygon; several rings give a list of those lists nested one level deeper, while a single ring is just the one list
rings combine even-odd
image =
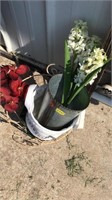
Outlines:
[{"label": "tall upright green leaf left of the white flowers", "polygon": [[65,41],[65,63],[64,63],[64,75],[63,75],[64,83],[63,83],[63,94],[62,94],[62,104],[66,101],[70,87],[71,87],[71,78],[72,78],[72,66],[70,60],[70,52]]}]

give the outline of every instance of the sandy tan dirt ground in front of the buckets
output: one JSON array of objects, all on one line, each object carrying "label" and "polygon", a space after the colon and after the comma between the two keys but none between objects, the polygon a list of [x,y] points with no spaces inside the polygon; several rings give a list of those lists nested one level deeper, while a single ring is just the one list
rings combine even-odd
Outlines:
[{"label": "sandy tan dirt ground in front of the buckets", "polygon": [[0,200],[111,200],[111,117],[110,107],[94,101],[84,129],[52,142],[1,120]]}]

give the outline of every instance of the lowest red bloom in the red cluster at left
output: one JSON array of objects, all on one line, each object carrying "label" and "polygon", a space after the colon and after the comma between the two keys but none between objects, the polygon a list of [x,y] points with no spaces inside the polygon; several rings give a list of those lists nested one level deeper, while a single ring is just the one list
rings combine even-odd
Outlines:
[{"label": "lowest red bloom in the red cluster at left", "polygon": [[7,110],[8,112],[17,111],[19,108],[18,102],[19,102],[19,98],[11,97],[10,101],[4,106],[5,110]]}]

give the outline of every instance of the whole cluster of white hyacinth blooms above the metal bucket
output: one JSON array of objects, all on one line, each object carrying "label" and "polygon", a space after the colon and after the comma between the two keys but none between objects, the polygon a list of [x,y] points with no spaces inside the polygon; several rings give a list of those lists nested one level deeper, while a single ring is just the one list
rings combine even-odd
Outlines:
[{"label": "whole cluster of white hyacinth blooms above the metal bucket", "polygon": [[[107,56],[104,49],[99,48],[101,44],[100,38],[95,35],[88,36],[87,23],[82,20],[74,23],[75,26],[70,31],[67,44],[72,57],[75,56],[74,64],[78,66],[74,82],[76,86],[80,87],[80,84],[84,82],[88,74],[98,68],[101,71],[100,68],[107,61]],[[91,77],[89,84],[92,84],[96,78],[97,74]]]}]

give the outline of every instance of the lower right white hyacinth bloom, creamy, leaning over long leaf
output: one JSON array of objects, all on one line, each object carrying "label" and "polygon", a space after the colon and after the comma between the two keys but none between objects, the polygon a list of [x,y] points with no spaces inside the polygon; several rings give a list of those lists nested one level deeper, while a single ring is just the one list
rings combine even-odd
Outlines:
[{"label": "lower right white hyacinth bloom, creamy, leaning over long leaf", "polygon": [[[99,71],[101,71],[101,67],[104,65],[105,61],[107,61],[107,56],[104,52],[104,49],[94,48],[92,52],[83,52],[81,55],[78,56],[77,59],[78,61],[80,60],[80,62],[79,68],[77,69],[77,74],[74,77],[74,82],[79,87],[88,74],[98,68]],[[95,74],[95,76],[91,78],[89,84],[93,84],[96,78],[97,74]]]}]

